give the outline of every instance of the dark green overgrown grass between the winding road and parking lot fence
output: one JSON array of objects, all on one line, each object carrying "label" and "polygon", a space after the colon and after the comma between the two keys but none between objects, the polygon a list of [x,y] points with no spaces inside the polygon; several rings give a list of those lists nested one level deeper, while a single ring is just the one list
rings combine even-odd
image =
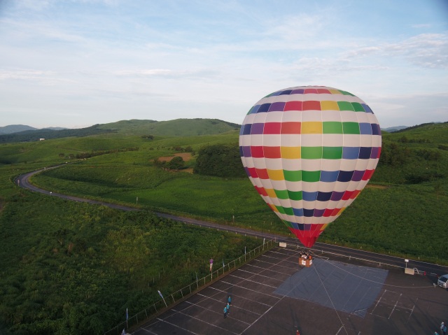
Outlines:
[{"label": "dark green overgrown grass between the winding road and parking lot fence", "polygon": [[260,244],[26,191],[2,209],[0,236],[0,325],[10,334],[103,334],[125,308],[137,313],[157,290],[207,275],[210,257],[228,261]]}]

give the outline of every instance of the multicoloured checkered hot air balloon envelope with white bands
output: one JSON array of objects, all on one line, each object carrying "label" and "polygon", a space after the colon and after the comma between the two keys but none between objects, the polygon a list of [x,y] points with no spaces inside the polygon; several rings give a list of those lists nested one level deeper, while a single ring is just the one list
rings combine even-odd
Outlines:
[{"label": "multicoloured checkered hot air balloon envelope with white bands", "polygon": [[349,92],[290,87],[248,111],[239,150],[255,190],[311,248],[372,177],[381,130],[370,107]]}]

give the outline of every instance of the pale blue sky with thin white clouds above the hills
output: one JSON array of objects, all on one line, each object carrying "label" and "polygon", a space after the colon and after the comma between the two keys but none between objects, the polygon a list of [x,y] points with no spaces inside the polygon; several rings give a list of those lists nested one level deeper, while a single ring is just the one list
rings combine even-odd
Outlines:
[{"label": "pale blue sky with thin white clouds above the hills", "polygon": [[304,85],[447,122],[448,0],[0,0],[0,127],[241,124]]}]

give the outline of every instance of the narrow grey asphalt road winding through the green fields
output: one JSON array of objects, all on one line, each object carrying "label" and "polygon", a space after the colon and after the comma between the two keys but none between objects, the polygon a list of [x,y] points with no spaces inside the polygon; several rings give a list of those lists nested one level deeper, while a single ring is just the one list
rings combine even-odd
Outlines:
[{"label": "narrow grey asphalt road winding through the green fields", "polygon": [[[18,176],[18,178],[16,178],[15,182],[20,187],[23,187],[27,190],[30,190],[32,192],[39,192],[42,194],[46,194],[51,197],[59,197],[59,198],[67,199],[67,200],[71,200],[71,201],[87,202],[89,204],[108,206],[110,208],[116,208],[121,211],[139,211],[138,208],[122,206],[122,205],[117,205],[117,204],[109,204],[104,201],[95,201],[95,200],[90,200],[90,199],[73,197],[73,196],[69,196],[66,194],[59,194],[56,192],[50,192],[47,190],[42,190],[41,188],[36,187],[35,185],[33,185],[29,182],[29,178],[31,176],[34,176],[36,173],[41,173],[48,169],[56,169],[57,167],[63,166],[63,165],[64,164],[60,164],[57,166],[51,166],[49,168],[44,168],[41,170],[24,173],[24,174]],[[285,236],[276,235],[276,234],[272,234],[272,233],[265,233],[262,231],[245,229],[245,228],[241,228],[241,227],[233,227],[233,226],[228,226],[228,225],[224,225],[224,224],[217,224],[217,223],[212,223],[212,222],[195,220],[195,219],[191,219],[191,218],[182,218],[179,216],[165,214],[165,213],[155,213],[155,214],[161,218],[168,218],[171,220],[184,222],[186,224],[195,224],[200,227],[208,227],[211,229],[218,229],[218,230],[223,230],[223,231],[232,231],[237,234],[246,235],[246,236],[254,236],[257,238],[266,238],[268,240],[275,239],[276,241],[287,243],[289,245],[297,245],[297,248],[303,248],[303,245],[296,238],[290,238],[290,237],[285,237]],[[420,261],[414,260],[414,259],[407,259],[408,262],[405,262],[405,259],[400,258],[400,257],[382,255],[382,254],[378,254],[375,252],[368,252],[368,251],[363,251],[363,250],[345,248],[345,247],[340,247],[337,245],[330,245],[330,244],[326,244],[326,243],[316,242],[314,244],[314,247],[311,250],[314,253],[327,252],[327,253],[332,253],[333,255],[340,255],[343,257],[347,257],[349,259],[351,259],[351,258],[362,259],[367,262],[374,262],[377,264],[387,264],[390,266],[396,266],[396,267],[400,267],[403,269],[405,267],[407,267],[407,268],[415,269],[416,273],[423,274],[423,275],[440,276],[444,273],[448,273],[448,266],[441,266],[438,264],[420,262]]]}]

